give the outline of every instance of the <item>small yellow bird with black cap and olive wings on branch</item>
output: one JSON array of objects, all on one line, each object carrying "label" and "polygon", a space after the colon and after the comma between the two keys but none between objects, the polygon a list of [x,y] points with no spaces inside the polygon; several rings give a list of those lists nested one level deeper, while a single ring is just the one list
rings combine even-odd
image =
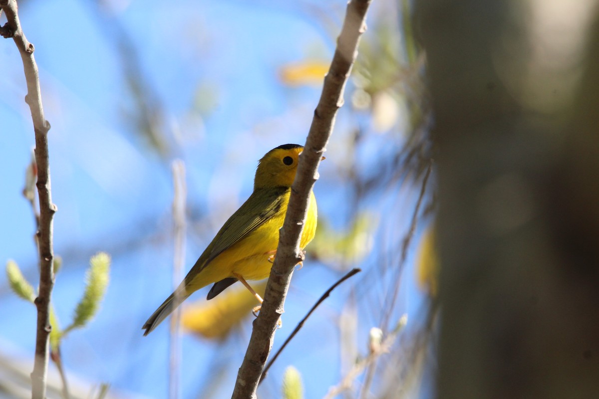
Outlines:
[{"label": "small yellow bird with black cap and olive wings on branch", "polygon": [[[261,280],[270,275],[279,244],[279,229],[285,220],[291,184],[302,150],[304,147],[301,145],[285,144],[262,157],[256,169],[252,195],[216,233],[175,292],[147,319],[142,327],[146,330],[144,336],[193,292],[212,283],[208,300],[229,285],[241,281],[262,303],[261,297],[246,280]],[[314,193],[310,193],[300,248],[305,248],[314,238],[316,219],[316,198]]]}]

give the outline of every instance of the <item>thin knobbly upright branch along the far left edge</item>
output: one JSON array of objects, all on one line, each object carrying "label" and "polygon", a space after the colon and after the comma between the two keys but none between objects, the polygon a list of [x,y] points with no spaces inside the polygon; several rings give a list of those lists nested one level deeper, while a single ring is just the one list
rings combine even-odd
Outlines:
[{"label": "thin knobbly upright branch along the far left edge", "polygon": [[52,249],[52,218],[56,205],[52,203],[50,191],[50,163],[48,153],[48,130],[50,124],[44,118],[41,103],[40,80],[37,64],[34,58],[34,45],[25,37],[17,15],[16,0],[1,0],[0,7],[4,10],[7,23],[0,28],[4,38],[14,39],[25,71],[27,95],[25,102],[31,109],[31,118],[35,131],[35,160],[37,162],[37,188],[40,198],[40,225],[38,227],[38,249],[40,256],[40,291],[35,299],[38,310],[37,338],[35,340],[35,363],[31,373],[32,398],[46,397],[46,375],[48,369],[49,337],[50,337],[50,297],[54,285]]}]

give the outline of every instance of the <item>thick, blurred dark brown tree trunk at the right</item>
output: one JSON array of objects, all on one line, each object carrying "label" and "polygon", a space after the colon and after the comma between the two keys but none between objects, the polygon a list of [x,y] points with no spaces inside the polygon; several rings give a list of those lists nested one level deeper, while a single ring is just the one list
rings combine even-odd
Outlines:
[{"label": "thick, blurred dark brown tree trunk at the right", "polygon": [[597,16],[581,57],[545,65],[528,2],[416,3],[440,198],[437,397],[597,398]]}]

